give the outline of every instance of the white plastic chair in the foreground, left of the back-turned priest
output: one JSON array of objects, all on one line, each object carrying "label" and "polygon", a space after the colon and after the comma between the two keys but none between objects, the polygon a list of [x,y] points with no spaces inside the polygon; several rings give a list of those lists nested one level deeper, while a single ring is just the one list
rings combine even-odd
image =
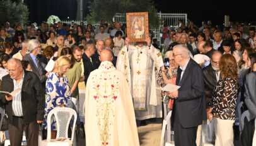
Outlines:
[{"label": "white plastic chair in the foreground, left of the back-turned priest", "polygon": [[[57,136],[56,139],[50,139],[51,132],[51,119],[52,115],[54,115],[56,120],[56,130]],[[72,127],[72,135],[71,138],[68,138],[68,129],[69,124],[71,122],[71,118],[74,117],[73,127]],[[77,114],[76,111],[72,108],[67,107],[55,107],[51,110],[47,116],[47,139],[42,140],[40,146],[71,146],[73,145],[74,139],[74,128],[76,127],[76,119]],[[58,139],[64,138],[64,140]]]}]

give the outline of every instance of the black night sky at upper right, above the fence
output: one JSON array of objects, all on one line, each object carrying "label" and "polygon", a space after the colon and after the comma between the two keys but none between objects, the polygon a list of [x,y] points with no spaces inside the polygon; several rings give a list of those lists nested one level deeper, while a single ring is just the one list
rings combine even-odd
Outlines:
[{"label": "black night sky at upper right, above the fence", "polygon": [[252,1],[172,1],[154,0],[156,8],[162,13],[187,13],[195,23],[212,20],[214,24],[222,24],[224,15],[230,15],[231,21],[255,21],[255,10]]}]

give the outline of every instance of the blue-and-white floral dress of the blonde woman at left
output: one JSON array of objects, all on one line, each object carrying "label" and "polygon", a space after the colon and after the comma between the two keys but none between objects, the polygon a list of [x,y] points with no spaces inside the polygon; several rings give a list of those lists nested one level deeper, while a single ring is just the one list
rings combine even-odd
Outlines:
[{"label": "blue-and-white floral dress of the blonde woman at left", "polygon": [[[59,77],[57,73],[50,73],[45,84],[45,115],[43,128],[47,128],[48,113],[59,105],[67,105],[71,100],[70,86],[66,76]],[[55,130],[55,120],[52,118],[51,129]]]}]

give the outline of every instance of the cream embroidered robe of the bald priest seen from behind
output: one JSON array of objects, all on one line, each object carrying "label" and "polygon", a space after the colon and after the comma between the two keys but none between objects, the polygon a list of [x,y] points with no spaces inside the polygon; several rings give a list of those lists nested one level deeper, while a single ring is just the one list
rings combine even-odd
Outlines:
[{"label": "cream embroidered robe of the bald priest seen from behind", "polygon": [[84,107],[86,145],[139,146],[129,86],[110,61],[91,72]]}]

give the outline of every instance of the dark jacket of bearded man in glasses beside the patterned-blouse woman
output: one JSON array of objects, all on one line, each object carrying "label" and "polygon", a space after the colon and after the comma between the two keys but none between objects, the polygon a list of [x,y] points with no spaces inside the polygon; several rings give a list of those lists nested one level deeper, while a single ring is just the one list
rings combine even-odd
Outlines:
[{"label": "dark jacket of bearded man in glasses beside the patterned-blouse woman", "polygon": [[212,90],[217,85],[216,71],[213,70],[211,65],[208,65],[202,71],[204,76],[204,93],[206,95],[206,103],[209,105],[212,100]]}]

